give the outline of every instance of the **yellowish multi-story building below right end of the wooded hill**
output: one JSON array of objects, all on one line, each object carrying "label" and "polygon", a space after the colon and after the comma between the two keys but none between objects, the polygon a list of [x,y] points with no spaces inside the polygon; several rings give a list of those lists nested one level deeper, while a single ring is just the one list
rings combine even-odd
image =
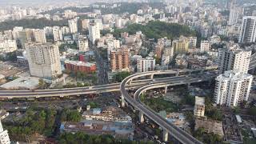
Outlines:
[{"label": "yellowish multi-story building below right end of the wooded hill", "polygon": [[174,54],[186,54],[189,50],[189,44],[187,38],[181,37],[173,41]]}]

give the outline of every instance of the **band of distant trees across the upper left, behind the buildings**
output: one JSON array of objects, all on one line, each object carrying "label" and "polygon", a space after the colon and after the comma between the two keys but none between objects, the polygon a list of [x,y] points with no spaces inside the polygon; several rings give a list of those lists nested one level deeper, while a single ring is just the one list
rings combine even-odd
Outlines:
[{"label": "band of distant trees across the upper left, behind the buildings", "polygon": [[52,21],[46,18],[39,19],[21,19],[0,22],[0,30],[11,30],[14,26],[23,26],[24,28],[42,29],[45,26],[67,26],[67,20]]}]

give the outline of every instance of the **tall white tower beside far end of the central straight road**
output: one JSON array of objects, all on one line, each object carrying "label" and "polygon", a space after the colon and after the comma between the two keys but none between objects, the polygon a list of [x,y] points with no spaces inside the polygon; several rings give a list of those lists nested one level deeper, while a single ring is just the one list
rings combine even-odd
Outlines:
[{"label": "tall white tower beside far end of the central straight road", "polygon": [[90,23],[90,26],[89,26],[90,42],[95,44],[95,41],[98,40],[99,38],[101,38],[101,32],[98,25],[96,23]]}]

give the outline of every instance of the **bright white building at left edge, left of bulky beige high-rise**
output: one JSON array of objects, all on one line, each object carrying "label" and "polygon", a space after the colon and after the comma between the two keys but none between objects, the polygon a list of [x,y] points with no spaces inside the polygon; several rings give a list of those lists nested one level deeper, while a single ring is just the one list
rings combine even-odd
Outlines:
[{"label": "bright white building at left edge, left of bulky beige high-rise", "polygon": [[15,40],[5,40],[0,42],[0,54],[10,53],[17,50],[17,43]]}]

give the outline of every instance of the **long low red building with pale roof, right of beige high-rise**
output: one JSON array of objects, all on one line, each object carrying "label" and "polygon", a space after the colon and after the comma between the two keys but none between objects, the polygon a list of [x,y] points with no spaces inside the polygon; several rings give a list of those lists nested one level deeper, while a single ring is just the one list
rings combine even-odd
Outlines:
[{"label": "long low red building with pale roof, right of beige high-rise", "polygon": [[66,70],[74,72],[85,72],[93,73],[96,71],[96,65],[90,62],[81,62],[81,61],[65,61]]}]

